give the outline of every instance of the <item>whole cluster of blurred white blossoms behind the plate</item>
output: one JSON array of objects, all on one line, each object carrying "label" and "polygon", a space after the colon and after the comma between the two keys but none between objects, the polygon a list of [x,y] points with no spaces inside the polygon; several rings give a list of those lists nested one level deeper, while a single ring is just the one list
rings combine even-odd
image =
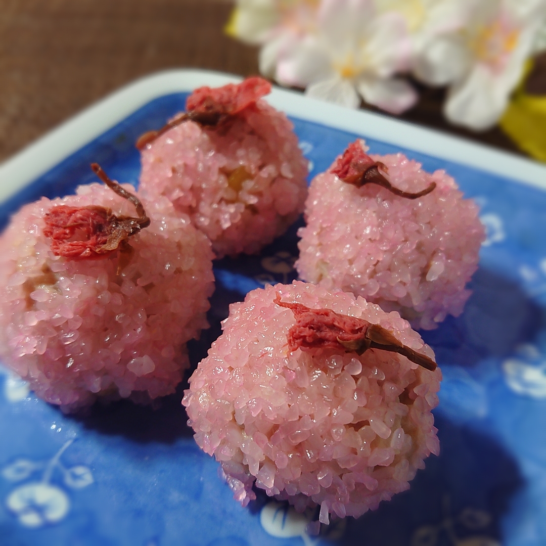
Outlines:
[{"label": "whole cluster of blurred white blossoms behind the plate", "polygon": [[262,44],[262,74],[311,97],[398,114],[417,99],[396,77],[411,71],[450,86],[444,114],[479,130],[546,47],[545,21],[546,0],[238,0],[228,30]]}]

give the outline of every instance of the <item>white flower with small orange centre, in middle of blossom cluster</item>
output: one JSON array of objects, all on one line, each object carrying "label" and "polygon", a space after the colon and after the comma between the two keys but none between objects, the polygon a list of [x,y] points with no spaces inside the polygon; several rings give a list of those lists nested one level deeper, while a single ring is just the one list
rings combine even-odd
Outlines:
[{"label": "white flower with small orange centre, in middle of blossom cluster", "polygon": [[[277,50],[278,53],[279,50]],[[411,43],[400,14],[377,14],[372,0],[323,0],[316,31],[283,46],[275,78],[311,97],[357,108],[367,103],[400,113],[417,95],[394,74],[409,66]]]}]

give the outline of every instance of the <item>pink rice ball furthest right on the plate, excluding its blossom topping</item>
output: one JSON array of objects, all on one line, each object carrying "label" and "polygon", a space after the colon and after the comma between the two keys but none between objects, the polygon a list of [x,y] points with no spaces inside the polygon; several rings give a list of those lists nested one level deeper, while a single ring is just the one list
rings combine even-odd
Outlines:
[{"label": "pink rice ball furthest right on the plate, excluding its blossom topping", "polygon": [[[355,145],[365,155],[364,141]],[[459,316],[471,294],[465,284],[485,239],[478,206],[463,199],[443,170],[429,174],[402,153],[366,157],[387,167],[382,174],[395,188],[417,193],[432,182],[436,187],[417,199],[373,183],[357,187],[332,172],[342,162],[338,157],[311,182],[296,269],[305,281],[398,311],[413,328],[437,328],[448,313]]]}]

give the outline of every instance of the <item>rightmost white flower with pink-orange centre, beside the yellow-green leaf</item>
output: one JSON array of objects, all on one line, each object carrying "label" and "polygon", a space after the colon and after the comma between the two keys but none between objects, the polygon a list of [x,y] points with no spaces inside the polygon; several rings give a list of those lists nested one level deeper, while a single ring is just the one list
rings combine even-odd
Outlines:
[{"label": "rightmost white flower with pink-orange centre, beside the yellow-green leaf", "polygon": [[493,126],[523,73],[546,15],[545,0],[474,0],[468,24],[428,47],[430,84],[450,84],[444,114],[475,130]]}]

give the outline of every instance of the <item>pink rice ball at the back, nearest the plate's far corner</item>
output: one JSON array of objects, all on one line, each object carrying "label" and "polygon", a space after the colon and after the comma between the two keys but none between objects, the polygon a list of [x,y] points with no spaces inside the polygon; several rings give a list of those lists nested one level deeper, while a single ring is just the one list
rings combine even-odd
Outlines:
[{"label": "pink rice ball at the back, nearest the plate's far corner", "polygon": [[[218,126],[177,124],[141,151],[140,191],[165,195],[212,241],[217,258],[257,253],[303,211],[307,161],[286,115],[260,99],[270,84],[259,78],[188,98],[213,106],[254,93]],[[234,109],[241,108],[236,104]],[[225,120],[224,120],[225,121]]]}]

